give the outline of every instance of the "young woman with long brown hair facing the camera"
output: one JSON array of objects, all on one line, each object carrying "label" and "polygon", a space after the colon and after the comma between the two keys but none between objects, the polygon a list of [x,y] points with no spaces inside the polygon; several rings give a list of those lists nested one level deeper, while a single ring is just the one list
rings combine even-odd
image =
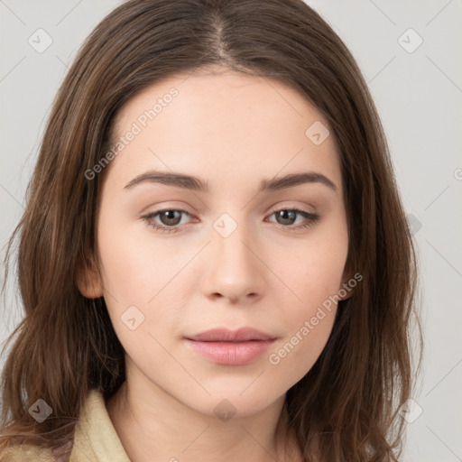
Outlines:
[{"label": "young woman with long brown hair facing the camera", "polygon": [[365,80],[302,1],[116,8],[18,233],[2,460],[398,460],[411,234]]}]

